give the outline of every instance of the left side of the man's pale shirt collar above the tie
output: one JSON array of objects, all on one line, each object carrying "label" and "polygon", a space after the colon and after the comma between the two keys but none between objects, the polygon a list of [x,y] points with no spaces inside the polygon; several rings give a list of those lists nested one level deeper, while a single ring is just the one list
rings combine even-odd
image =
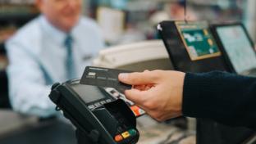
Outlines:
[{"label": "left side of the man's pale shirt collar above the tie", "polygon": [[[39,17],[40,23],[43,26],[43,29],[48,33],[49,37],[53,38],[57,43],[64,43],[67,37],[67,34],[63,32],[61,29],[57,29],[57,27],[53,26],[45,16]],[[72,31],[70,33],[72,36]]]}]

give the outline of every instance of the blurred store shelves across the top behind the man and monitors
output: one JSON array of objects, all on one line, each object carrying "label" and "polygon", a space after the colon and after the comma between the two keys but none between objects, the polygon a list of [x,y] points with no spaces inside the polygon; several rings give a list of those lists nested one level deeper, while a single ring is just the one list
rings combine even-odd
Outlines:
[{"label": "blurred store shelves across the top behind the man and monitors", "polygon": [[[0,0],[0,42],[38,15],[33,0]],[[188,19],[212,23],[242,21],[255,34],[254,0],[188,0]],[[176,0],[84,0],[84,15],[98,21],[109,45],[156,38],[154,26],[161,20],[183,19]],[[109,19],[115,19],[114,21]]]}]

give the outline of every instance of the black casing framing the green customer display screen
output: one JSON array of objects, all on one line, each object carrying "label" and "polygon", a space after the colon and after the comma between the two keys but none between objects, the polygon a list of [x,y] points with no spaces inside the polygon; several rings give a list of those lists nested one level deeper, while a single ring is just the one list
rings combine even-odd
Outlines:
[{"label": "black casing framing the green customer display screen", "polygon": [[[213,70],[228,71],[226,69],[226,64],[223,61],[222,55],[221,56],[213,56],[213,57],[201,59],[198,61],[191,61],[189,52],[186,50],[185,43],[182,41],[181,34],[179,33],[179,31],[176,27],[176,21],[177,20],[165,20],[158,24],[159,36],[160,36],[160,38],[162,38],[162,42],[164,43],[164,45],[167,49],[167,52],[168,52],[168,55],[169,55],[169,58],[173,65],[174,70],[180,70],[180,71],[184,71],[184,72],[209,72],[209,71],[213,71]],[[178,21],[180,21],[180,20],[178,20]],[[199,20],[199,21],[203,21],[203,20]],[[191,22],[193,22],[193,20]],[[210,26],[211,25],[208,24],[209,32],[212,33]],[[175,37],[173,37],[174,35],[175,35]],[[213,38],[214,38],[214,36],[213,36]],[[169,39],[172,39],[172,41],[177,41],[177,43],[176,44],[172,43],[172,45],[170,46],[171,42],[170,43],[168,42]],[[215,41],[215,38],[214,38],[214,41]],[[215,43],[217,43],[217,42],[215,42]],[[171,50],[171,47],[173,47],[175,49],[177,49],[177,47],[179,47],[178,52],[185,52],[185,54],[187,54],[187,56],[185,56],[185,54],[184,54],[183,59],[178,60],[176,53]],[[218,45],[217,45],[217,47],[218,47]],[[216,65],[216,64],[217,65],[215,66],[215,68],[213,68],[213,66],[210,66],[211,68],[208,68],[208,66],[204,66],[204,67],[200,66],[199,69],[201,69],[201,70],[195,70],[195,69],[189,70],[189,67],[187,67],[187,66],[184,67],[181,65],[182,61],[183,62],[190,61],[188,66],[190,66],[190,67],[193,66],[194,68],[196,68],[199,65],[213,65],[213,62],[210,62],[210,61],[215,61],[214,65]]]}]

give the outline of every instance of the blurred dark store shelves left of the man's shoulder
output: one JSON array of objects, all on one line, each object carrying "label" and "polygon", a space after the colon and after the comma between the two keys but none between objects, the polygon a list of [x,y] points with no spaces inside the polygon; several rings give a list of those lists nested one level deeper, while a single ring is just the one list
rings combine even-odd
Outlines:
[{"label": "blurred dark store shelves left of the man's shoulder", "polygon": [[7,67],[4,42],[22,25],[39,15],[34,0],[0,0],[0,70]]}]

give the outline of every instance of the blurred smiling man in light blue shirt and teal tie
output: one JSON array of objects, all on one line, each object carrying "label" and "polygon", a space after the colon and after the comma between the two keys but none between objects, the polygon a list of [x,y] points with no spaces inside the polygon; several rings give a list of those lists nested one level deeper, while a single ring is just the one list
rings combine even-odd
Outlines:
[{"label": "blurred smiling man in light blue shirt and teal tie", "polygon": [[35,0],[42,15],[7,41],[12,108],[28,115],[55,115],[51,85],[80,78],[103,48],[93,20],[80,16],[81,0]]}]

